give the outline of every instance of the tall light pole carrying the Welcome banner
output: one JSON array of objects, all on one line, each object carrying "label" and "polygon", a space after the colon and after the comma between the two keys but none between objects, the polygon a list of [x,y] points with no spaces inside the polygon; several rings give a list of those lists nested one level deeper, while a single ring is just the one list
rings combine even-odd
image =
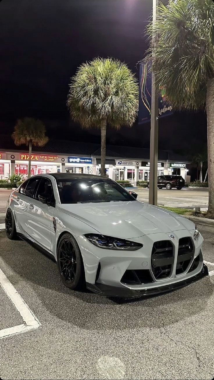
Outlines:
[{"label": "tall light pole carrying the Welcome banner", "polygon": [[[152,24],[156,22],[159,0],[152,0]],[[155,41],[153,37],[152,44]],[[149,203],[157,206],[157,163],[158,163],[158,89],[155,73],[152,70],[151,95],[151,131],[150,131],[150,170],[149,170]]]}]

